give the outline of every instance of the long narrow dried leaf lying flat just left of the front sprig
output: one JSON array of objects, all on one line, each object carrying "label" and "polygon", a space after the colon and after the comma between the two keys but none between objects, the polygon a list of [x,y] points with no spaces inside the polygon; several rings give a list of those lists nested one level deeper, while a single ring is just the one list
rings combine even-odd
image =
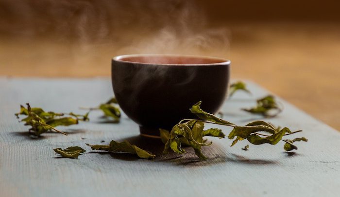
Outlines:
[{"label": "long narrow dried leaf lying flat just left of the front sprig", "polygon": [[109,145],[86,145],[90,146],[92,150],[105,150],[105,151],[110,151],[110,152],[123,152],[123,153],[131,153],[131,154],[136,154],[140,158],[144,159],[152,159],[155,158],[156,156],[150,153],[149,151],[143,150],[136,145],[132,145],[127,141],[124,142],[116,142],[112,140]]}]

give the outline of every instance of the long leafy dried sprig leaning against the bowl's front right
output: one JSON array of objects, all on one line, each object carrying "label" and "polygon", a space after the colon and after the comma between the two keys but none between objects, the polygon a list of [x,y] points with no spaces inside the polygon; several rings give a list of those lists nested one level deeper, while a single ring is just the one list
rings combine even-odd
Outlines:
[{"label": "long leafy dried sprig leaning against the bowl's front right", "polygon": [[[244,139],[247,139],[250,143],[255,145],[264,143],[275,145],[282,140],[283,136],[302,131],[299,130],[291,132],[287,127],[284,127],[282,129],[280,129],[280,127],[276,128],[272,124],[264,121],[254,121],[245,126],[238,126],[226,120],[223,120],[213,114],[203,111],[200,105],[201,102],[198,102],[191,107],[190,111],[198,116],[201,120],[182,120],[177,125],[173,126],[170,132],[165,129],[160,129],[162,142],[165,142],[163,153],[169,153],[169,151],[172,150],[175,153],[183,154],[186,152],[186,150],[182,147],[182,145],[187,145],[191,146],[195,150],[195,154],[200,158],[200,160],[205,160],[206,156],[204,156],[204,154],[202,153],[201,147],[211,145],[212,142],[205,143],[203,137],[213,136],[224,138],[225,136],[224,133],[222,133],[221,129],[212,128],[204,130],[205,123],[234,127],[228,135],[228,138],[230,140],[234,140],[231,146],[235,145],[238,141]],[[300,140],[299,139],[300,138],[294,140],[302,140],[302,138]],[[285,150],[288,151],[297,148],[295,145],[292,144],[294,140],[282,140],[286,142],[286,144],[290,145],[289,148],[288,145],[285,144]]]}]

